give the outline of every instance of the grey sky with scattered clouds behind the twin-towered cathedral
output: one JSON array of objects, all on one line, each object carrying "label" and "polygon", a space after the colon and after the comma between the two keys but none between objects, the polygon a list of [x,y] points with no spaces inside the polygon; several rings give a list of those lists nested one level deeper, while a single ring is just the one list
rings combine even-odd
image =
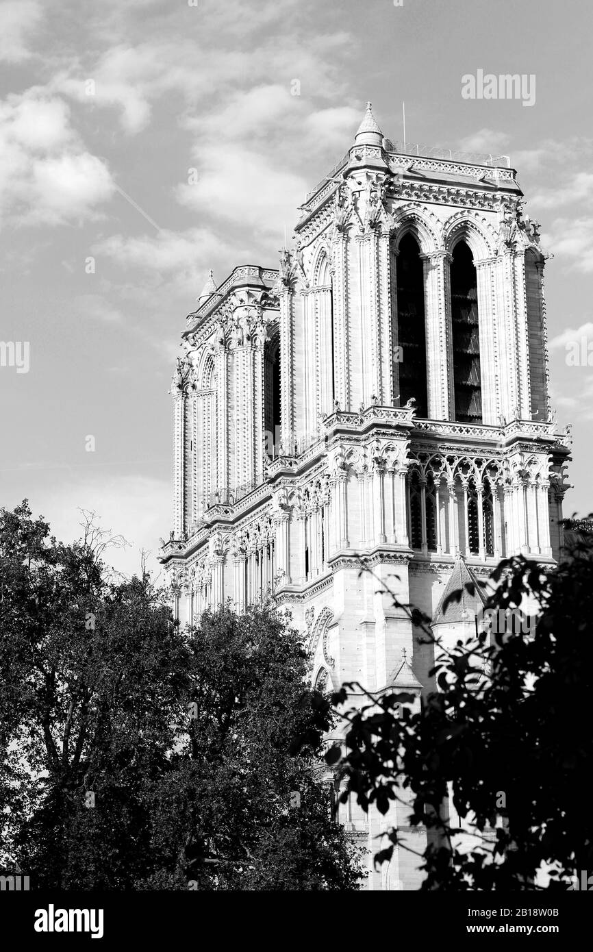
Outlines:
[{"label": "grey sky with scattered clouds behind the twin-towered cathedral", "polygon": [[[408,142],[518,169],[553,254],[565,513],[592,510],[592,27],[584,0],[0,2],[0,341],[29,345],[0,366],[0,506],[64,541],[94,510],[130,543],[112,565],[156,565],[186,315],[208,268],[277,267],[371,100],[391,139],[405,101]],[[535,77],[534,101],[465,98],[479,69]]]}]

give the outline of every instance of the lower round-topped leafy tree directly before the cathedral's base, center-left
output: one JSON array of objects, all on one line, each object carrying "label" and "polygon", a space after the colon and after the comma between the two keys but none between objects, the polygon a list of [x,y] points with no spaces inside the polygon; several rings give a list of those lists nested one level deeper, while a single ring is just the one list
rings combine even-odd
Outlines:
[{"label": "lower round-topped leafy tree directly before the cathedral's base, center-left", "polygon": [[190,645],[189,732],[155,791],[156,848],[176,843],[171,877],[198,889],[357,888],[354,850],[317,776],[329,705],[306,688],[298,634],[273,605],[223,607],[203,614]]}]

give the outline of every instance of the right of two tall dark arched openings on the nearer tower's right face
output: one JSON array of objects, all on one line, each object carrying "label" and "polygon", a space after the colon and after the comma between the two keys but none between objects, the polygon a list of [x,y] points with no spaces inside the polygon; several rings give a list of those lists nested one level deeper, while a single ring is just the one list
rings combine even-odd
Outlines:
[{"label": "right of two tall dark arched openings on the nearer tower's right face", "polygon": [[453,249],[451,323],[455,419],[459,423],[482,423],[478,278],[465,241]]}]

